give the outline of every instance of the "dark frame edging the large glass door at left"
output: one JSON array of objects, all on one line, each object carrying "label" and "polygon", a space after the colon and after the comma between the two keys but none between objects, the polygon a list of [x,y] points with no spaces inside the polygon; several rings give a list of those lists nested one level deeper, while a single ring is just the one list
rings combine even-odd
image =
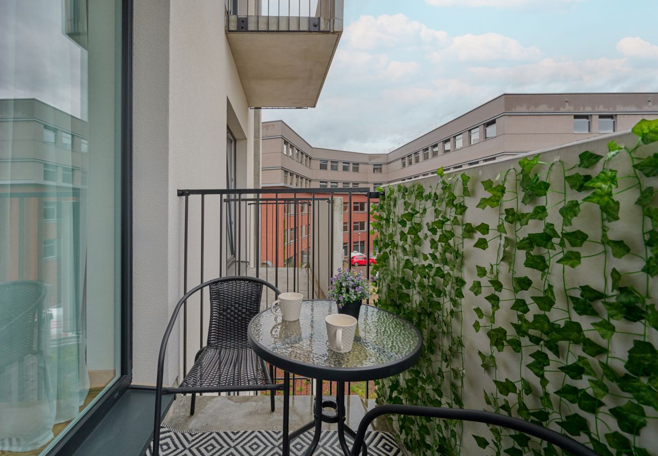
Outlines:
[{"label": "dark frame edging the large glass door at left", "polygon": [[84,442],[132,382],[132,41],[133,0],[121,0],[121,328],[120,372],[44,455],[68,455]]}]

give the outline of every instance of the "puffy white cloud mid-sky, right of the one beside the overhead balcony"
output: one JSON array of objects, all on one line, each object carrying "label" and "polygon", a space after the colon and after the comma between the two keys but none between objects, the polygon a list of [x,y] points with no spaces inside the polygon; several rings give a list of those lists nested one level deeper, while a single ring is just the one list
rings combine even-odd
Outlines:
[{"label": "puffy white cloud mid-sky, right of the one beside the overhead balcony", "polygon": [[453,38],[445,49],[430,53],[434,62],[457,58],[468,61],[535,60],[542,52],[535,46],[524,47],[517,40],[497,33],[462,35]]}]

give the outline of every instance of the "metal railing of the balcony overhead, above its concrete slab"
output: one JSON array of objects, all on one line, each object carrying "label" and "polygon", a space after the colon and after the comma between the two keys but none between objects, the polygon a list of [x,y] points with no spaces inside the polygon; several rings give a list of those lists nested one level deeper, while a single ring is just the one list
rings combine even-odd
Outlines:
[{"label": "metal railing of the balcony overhead, above its concrete slab", "polygon": [[226,0],[226,12],[229,32],[334,32],[342,1]]}]

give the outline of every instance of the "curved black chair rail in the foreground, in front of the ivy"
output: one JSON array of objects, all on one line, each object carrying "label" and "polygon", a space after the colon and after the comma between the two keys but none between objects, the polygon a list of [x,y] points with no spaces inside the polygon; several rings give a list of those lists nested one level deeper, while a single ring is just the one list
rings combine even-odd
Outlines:
[{"label": "curved black chair rail in the foreground, in front of the ivy", "polygon": [[597,456],[594,450],[586,447],[580,442],[576,442],[572,438],[555,432],[538,424],[530,423],[519,418],[512,416],[505,416],[492,412],[485,412],[481,410],[469,409],[447,409],[443,407],[422,407],[419,405],[401,405],[401,404],[386,404],[379,405],[365,414],[359,423],[359,430],[354,439],[351,456],[367,456],[367,448],[363,445],[366,430],[370,423],[384,414],[401,414],[411,416],[427,416],[428,418],[443,418],[447,420],[462,420],[474,421],[486,424],[493,424],[495,426],[502,426],[528,434],[545,440],[545,442],[553,443],[553,445],[560,447],[576,456]]}]

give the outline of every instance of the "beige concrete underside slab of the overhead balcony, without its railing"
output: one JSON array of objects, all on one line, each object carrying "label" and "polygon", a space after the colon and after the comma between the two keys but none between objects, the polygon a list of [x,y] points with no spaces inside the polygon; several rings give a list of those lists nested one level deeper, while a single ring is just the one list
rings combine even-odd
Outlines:
[{"label": "beige concrete underside slab of the overhead balcony, without its railing", "polygon": [[315,107],[340,32],[228,32],[249,107]]}]

